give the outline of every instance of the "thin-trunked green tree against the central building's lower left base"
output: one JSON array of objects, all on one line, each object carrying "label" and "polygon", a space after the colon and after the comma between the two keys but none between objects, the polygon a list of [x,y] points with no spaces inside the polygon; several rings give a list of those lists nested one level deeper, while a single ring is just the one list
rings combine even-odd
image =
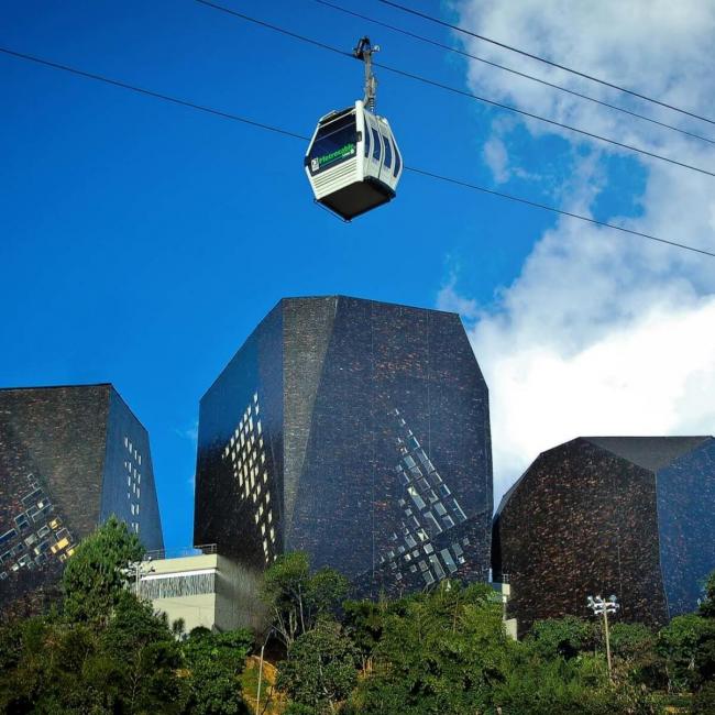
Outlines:
[{"label": "thin-trunked green tree against the central building's lower left base", "polygon": [[266,570],[262,597],[276,634],[289,648],[314,628],[318,617],[338,609],[348,588],[348,580],[333,569],[311,574],[308,554],[295,551],[278,557]]}]

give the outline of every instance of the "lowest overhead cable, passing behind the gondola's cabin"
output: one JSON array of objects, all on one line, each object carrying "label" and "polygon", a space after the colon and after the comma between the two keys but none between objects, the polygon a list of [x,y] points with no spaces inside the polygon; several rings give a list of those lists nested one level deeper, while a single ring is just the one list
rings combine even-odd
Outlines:
[{"label": "lowest overhead cable, passing behind the gondola's cabin", "polygon": [[[25,53],[16,52],[14,50],[10,50],[8,47],[1,47],[0,46],[0,53],[3,53],[6,55],[10,55],[12,57],[15,57],[18,59],[24,59],[28,62],[35,63],[37,65],[44,65],[46,67],[51,67],[53,69],[59,69],[62,72],[66,72],[73,75],[77,75],[79,77],[84,77],[86,79],[92,79],[95,81],[103,82],[107,85],[111,85],[113,87],[120,87],[121,89],[128,89],[130,91],[138,92],[140,95],[144,95],[145,97],[153,97],[154,99],[161,99],[162,101],[170,102],[172,105],[179,106],[179,107],[186,107],[187,109],[193,109],[196,111],[205,112],[208,114],[212,114],[213,117],[220,117],[221,119],[229,119],[234,122],[241,122],[243,124],[248,124],[250,127],[254,127],[255,129],[262,129],[267,132],[273,132],[275,134],[282,134],[284,136],[289,136],[290,139],[299,139],[300,141],[308,142],[310,139],[304,134],[299,134],[298,132],[293,132],[287,129],[283,129],[280,127],[275,127],[273,124],[266,124],[264,122],[258,122],[252,119],[248,119],[246,117],[241,117],[240,114],[235,114],[233,112],[227,112],[218,109],[213,109],[212,107],[206,107],[205,105],[199,105],[197,102],[188,101],[186,99],[179,99],[177,97],[172,97],[170,95],[165,95],[163,92],[157,92],[152,89],[146,89],[144,87],[139,87],[136,85],[130,85],[129,82],[121,81],[119,79],[112,79],[111,77],[106,77],[105,75],[98,75],[96,73],[90,73],[86,72],[84,69],[78,69],[76,67],[70,67],[69,65],[63,65],[57,62],[53,62],[50,59],[44,59],[43,57],[37,57],[35,55],[29,55]],[[469,182],[463,182],[461,179],[455,179],[450,176],[444,176],[441,174],[436,174],[435,172],[429,172],[427,169],[421,169],[416,166],[405,166],[405,170],[411,172],[413,174],[426,176],[428,178],[432,178],[439,182],[444,182],[447,184],[452,184],[454,186],[461,186],[463,188],[472,189],[474,191],[480,191],[482,194],[488,194],[491,196],[497,196],[503,199],[508,199],[510,201],[516,201],[518,204],[524,204],[525,206],[530,206],[534,208],[542,209],[544,211],[551,211],[552,213],[559,213],[561,216],[566,216],[572,219],[579,219],[580,221],[586,221],[587,223],[593,223],[595,226],[600,226],[603,228],[608,228],[608,229],[614,229],[616,231],[622,231],[624,233],[628,233],[630,235],[636,235],[642,239],[648,239],[649,241],[656,241],[658,243],[663,243],[676,249],[682,249],[684,251],[691,251],[693,253],[700,253],[702,255],[710,256],[712,258],[715,258],[715,253],[711,251],[706,251],[704,249],[697,249],[694,245],[689,245],[686,243],[679,243],[676,241],[669,241],[667,239],[661,239],[658,238],[657,235],[651,235],[649,233],[642,233],[641,231],[635,231],[632,229],[627,229],[623,226],[617,226],[616,223],[608,223],[607,221],[598,221],[596,219],[593,219],[587,216],[583,216],[580,213],[574,213],[572,211],[565,211],[563,209],[558,209],[553,206],[549,206],[547,204],[540,204],[538,201],[532,201],[530,199],[526,199],[520,196],[514,196],[513,194],[506,194],[505,191],[497,191],[495,189],[488,189],[484,186],[479,186],[477,184],[470,184]]]}]

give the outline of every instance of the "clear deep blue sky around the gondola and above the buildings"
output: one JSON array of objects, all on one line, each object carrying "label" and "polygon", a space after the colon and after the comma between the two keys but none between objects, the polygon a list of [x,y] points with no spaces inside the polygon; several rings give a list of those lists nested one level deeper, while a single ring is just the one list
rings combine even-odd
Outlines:
[{"label": "clear deep blue sky around the gondola and above the buildings", "polygon": [[[474,89],[457,55],[311,0],[222,2],[344,50],[369,34],[380,62]],[[377,2],[344,4],[458,42]],[[0,44],[300,134],[362,95],[358,62],[191,0],[3,3]],[[497,139],[520,170],[499,179],[484,147],[503,112],[378,79],[407,165],[558,204],[592,158],[588,210],[644,213],[635,158],[514,122]],[[150,431],[167,547],[191,541],[199,398],[280,297],[459,298],[471,326],[506,316],[505,292],[561,226],[409,174],[396,201],[346,226],[314,206],[299,141],[6,55],[0,88],[0,384],[112,382]]]}]

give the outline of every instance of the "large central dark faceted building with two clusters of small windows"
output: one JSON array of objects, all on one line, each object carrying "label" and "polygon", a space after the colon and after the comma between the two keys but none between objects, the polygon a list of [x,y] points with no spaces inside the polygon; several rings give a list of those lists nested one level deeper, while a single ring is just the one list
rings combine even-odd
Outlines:
[{"label": "large central dark faceted building with two clusters of small windows", "polygon": [[459,316],[289,298],[200,404],[195,542],[305,550],[358,593],[486,580],[488,394]]}]

